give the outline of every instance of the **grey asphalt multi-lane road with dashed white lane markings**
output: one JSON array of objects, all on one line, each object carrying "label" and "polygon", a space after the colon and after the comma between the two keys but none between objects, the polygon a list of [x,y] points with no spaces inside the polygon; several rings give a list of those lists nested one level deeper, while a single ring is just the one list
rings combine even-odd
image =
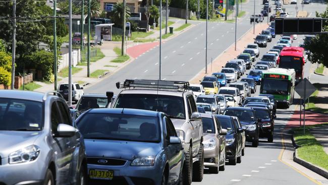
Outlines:
[{"label": "grey asphalt multi-lane road with dashed white lane markings", "polygon": [[[270,1],[272,3],[272,1]],[[310,13],[310,16],[315,15],[315,11],[323,11],[326,5],[312,3],[304,5],[304,10]],[[285,5],[284,8],[291,16],[296,15],[296,5]],[[259,12],[262,5],[256,5],[256,12]],[[272,5],[272,9],[275,8]],[[302,6],[298,3],[298,10]],[[243,5],[243,10],[250,12],[253,10],[252,2]],[[192,22],[192,21],[190,21]],[[193,21],[195,26],[192,29],[182,33],[181,35],[171,39],[162,46],[162,79],[166,80],[190,80],[204,67],[205,59],[205,23]],[[253,25],[249,24],[249,14],[245,19],[238,23],[238,38],[246,33]],[[209,22],[208,31],[208,61],[211,58],[216,58],[231,44],[234,43],[234,27],[231,23],[214,23]],[[272,39],[266,48],[260,49],[260,56],[272,48],[279,40],[280,36]],[[293,45],[302,43],[302,36],[294,40]],[[138,57],[134,62],[127,65],[115,74],[103,79],[101,82],[94,84],[85,89],[85,93],[97,92],[104,93],[107,90],[113,90],[118,93],[119,90],[115,87],[115,82],[123,81],[127,78],[140,79],[157,79],[158,78],[158,48],[147,52]],[[257,59],[259,60],[259,59]],[[311,79],[318,82],[324,80],[309,74],[311,64],[305,64],[304,77],[311,75]],[[259,86],[257,87],[258,94]],[[254,95],[253,95],[254,96]],[[298,95],[295,94],[295,102]],[[242,157],[242,163],[236,166],[226,166],[225,171],[220,171],[218,174],[208,174],[205,170],[202,182],[193,182],[192,184],[314,184],[313,181],[295,171],[291,167],[279,161],[282,152],[282,130],[288,122],[295,109],[292,105],[289,109],[277,110],[277,119],[275,121],[274,143],[267,143],[264,138],[260,139],[259,146],[252,148],[248,143],[245,150],[245,156]]]}]

